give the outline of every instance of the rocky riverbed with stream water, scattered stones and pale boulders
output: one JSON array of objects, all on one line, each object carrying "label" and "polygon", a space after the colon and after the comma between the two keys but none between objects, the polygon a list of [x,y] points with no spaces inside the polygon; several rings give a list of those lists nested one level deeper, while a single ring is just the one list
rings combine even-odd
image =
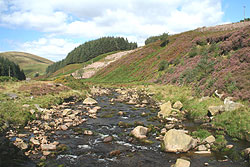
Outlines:
[{"label": "rocky riverbed with stream water, scattered stones and pale boulders", "polygon": [[191,136],[201,123],[187,120],[178,101],[156,103],[135,89],[91,94],[83,102],[37,106],[36,120],[2,136],[0,166],[249,166],[249,143],[226,136],[234,151],[225,154],[212,150],[213,135]]}]

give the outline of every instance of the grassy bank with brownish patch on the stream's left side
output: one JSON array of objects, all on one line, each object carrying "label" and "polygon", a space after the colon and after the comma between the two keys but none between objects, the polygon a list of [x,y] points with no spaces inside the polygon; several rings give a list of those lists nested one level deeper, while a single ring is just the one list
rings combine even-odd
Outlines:
[{"label": "grassy bank with brownish patch on the stream's left side", "polygon": [[[31,114],[30,111],[39,113],[36,105],[49,108],[70,97],[80,100],[87,93],[87,87],[72,78],[64,78],[57,82],[60,83],[42,81],[0,83],[0,132],[8,126],[24,126],[34,119],[35,114]],[[15,94],[17,98],[11,99],[9,94]]]}]

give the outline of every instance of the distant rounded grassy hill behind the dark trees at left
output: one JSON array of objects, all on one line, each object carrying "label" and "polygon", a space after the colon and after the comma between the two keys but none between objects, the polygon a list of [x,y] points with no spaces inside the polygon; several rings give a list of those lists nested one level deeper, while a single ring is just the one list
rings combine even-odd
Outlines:
[{"label": "distant rounded grassy hill behind the dark trees at left", "polygon": [[18,64],[23,69],[26,77],[34,77],[36,73],[43,75],[46,68],[53,64],[48,59],[24,52],[3,52],[0,53],[0,56]]}]

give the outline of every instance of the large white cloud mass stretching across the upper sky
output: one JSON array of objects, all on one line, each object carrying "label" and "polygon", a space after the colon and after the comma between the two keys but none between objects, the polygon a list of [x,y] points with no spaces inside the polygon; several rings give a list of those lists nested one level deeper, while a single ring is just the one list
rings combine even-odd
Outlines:
[{"label": "large white cloud mass stretching across the upper sky", "polygon": [[[6,3],[1,3],[0,7]],[[84,40],[107,35],[139,44],[152,35],[221,23],[221,0],[11,0],[0,26]],[[6,11],[6,10],[5,10]]]}]

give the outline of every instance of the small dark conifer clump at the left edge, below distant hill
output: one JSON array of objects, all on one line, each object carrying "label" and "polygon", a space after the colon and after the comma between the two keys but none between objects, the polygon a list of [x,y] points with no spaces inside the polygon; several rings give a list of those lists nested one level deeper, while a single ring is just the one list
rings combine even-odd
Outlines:
[{"label": "small dark conifer clump at the left edge, below distant hill", "polygon": [[15,77],[18,80],[26,79],[26,76],[23,70],[20,69],[19,65],[3,57],[0,57],[0,76]]}]

